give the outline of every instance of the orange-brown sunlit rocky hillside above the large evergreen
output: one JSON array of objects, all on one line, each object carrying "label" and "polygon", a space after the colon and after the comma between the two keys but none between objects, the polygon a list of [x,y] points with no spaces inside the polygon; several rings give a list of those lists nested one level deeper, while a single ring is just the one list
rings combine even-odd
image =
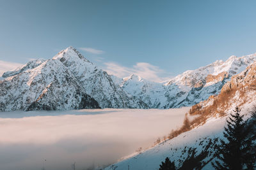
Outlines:
[{"label": "orange-brown sunlit rocky hillside above the large evergreen", "polygon": [[223,85],[218,96],[210,96],[190,110],[192,115],[200,115],[206,118],[215,115],[225,115],[229,110],[238,106],[243,108],[245,104],[255,104],[256,101],[256,62],[246,67],[244,71],[230,78]]}]

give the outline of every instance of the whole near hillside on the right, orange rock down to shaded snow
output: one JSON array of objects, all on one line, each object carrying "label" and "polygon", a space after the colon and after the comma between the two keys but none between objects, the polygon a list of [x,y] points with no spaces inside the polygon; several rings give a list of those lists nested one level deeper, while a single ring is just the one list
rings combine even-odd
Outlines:
[{"label": "whole near hillside on the right, orange rock down to shaded snow", "polygon": [[163,139],[151,148],[133,153],[106,167],[106,170],[127,169],[128,166],[134,170],[159,169],[159,165],[166,157],[175,161],[175,166],[179,168],[184,164],[189,164],[191,168],[195,161],[200,161],[202,169],[214,169],[211,162],[214,161],[216,143],[218,139],[224,138],[226,120],[236,106],[242,109],[241,114],[249,120],[248,124],[254,129],[251,133],[255,134],[256,117],[251,114],[252,111],[256,111],[255,101],[256,62],[232,76],[230,81],[223,85],[220,94],[210,96],[209,99],[192,106],[189,115],[195,117],[189,122],[191,130],[181,132],[176,137],[171,132],[170,139]]}]

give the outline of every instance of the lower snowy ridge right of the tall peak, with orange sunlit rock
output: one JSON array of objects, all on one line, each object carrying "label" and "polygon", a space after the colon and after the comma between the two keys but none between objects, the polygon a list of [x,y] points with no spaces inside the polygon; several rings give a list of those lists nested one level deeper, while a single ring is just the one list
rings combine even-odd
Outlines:
[{"label": "lower snowy ridge right of the tall peak, with orange sunlit rock", "polygon": [[186,71],[171,80],[156,83],[132,74],[116,83],[125,92],[141,99],[150,108],[192,106],[220,93],[223,85],[237,73],[256,61],[256,54],[217,60],[205,67]]}]

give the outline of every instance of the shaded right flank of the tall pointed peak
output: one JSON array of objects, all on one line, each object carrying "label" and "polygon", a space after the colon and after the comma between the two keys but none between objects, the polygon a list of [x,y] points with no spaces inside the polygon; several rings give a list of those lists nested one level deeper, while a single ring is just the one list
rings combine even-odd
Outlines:
[{"label": "shaded right flank of the tall pointed peak", "polygon": [[72,46],[62,50],[53,59],[60,60],[68,68],[101,108],[147,108],[143,102],[125,93],[106,71],[85,59]]}]

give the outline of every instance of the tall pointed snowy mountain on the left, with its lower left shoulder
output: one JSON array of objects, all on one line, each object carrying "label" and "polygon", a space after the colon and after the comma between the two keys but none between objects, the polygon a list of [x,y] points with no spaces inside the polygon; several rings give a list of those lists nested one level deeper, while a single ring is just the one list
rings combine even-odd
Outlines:
[{"label": "tall pointed snowy mountain on the left, with its lower left shoulder", "polygon": [[72,46],[3,74],[0,110],[147,108]]}]

